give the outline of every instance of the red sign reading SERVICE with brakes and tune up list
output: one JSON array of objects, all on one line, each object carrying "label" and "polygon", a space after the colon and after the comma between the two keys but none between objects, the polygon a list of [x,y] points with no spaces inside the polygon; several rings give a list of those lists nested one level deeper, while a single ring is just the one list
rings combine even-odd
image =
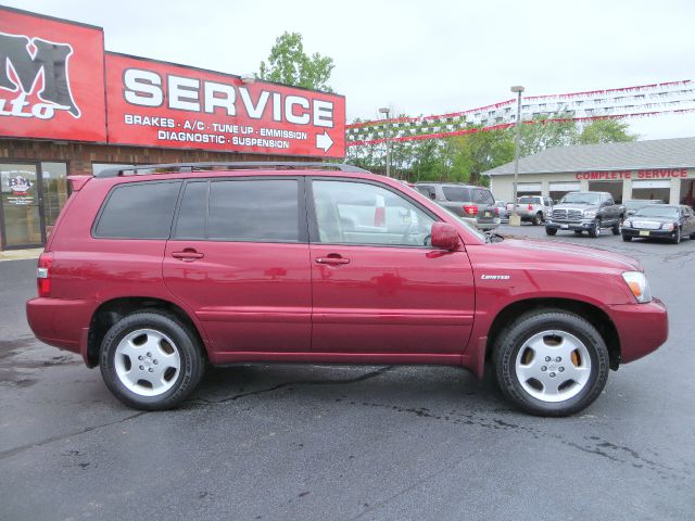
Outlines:
[{"label": "red sign reading SERVICE with brakes and tune up list", "polygon": [[345,99],[106,53],[109,142],[343,157]]}]

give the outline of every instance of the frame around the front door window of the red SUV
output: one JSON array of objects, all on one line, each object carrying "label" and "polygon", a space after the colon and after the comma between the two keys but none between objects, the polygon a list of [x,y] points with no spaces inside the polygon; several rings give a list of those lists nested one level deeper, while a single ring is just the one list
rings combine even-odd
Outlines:
[{"label": "frame around the front door window of the red SUV", "polygon": [[[384,185],[371,179],[359,179],[359,178],[354,178],[354,177],[327,177],[327,176],[307,176],[306,177],[306,182],[305,182],[305,189],[304,189],[304,193],[306,196],[306,211],[307,211],[307,217],[308,217],[308,238],[309,238],[309,244],[315,244],[315,245],[334,245],[334,246],[367,246],[367,247],[390,247],[390,249],[399,249],[399,247],[406,247],[406,249],[414,249],[414,250],[432,250],[432,246],[427,246],[425,244],[422,245],[417,245],[417,244],[375,244],[375,243],[358,243],[358,242],[321,242],[319,234],[318,234],[318,220],[316,218],[316,207],[314,205],[314,181],[336,181],[336,182],[354,182],[354,183],[361,183],[361,185],[372,185],[375,187],[378,188],[382,188],[384,190],[388,190],[390,192],[392,192],[395,195],[399,195],[403,199],[405,199],[407,202],[409,202],[410,204],[413,204],[413,206],[415,206],[417,209],[419,209],[420,212],[422,212],[425,215],[427,215],[428,217],[430,217],[434,223],[441,223],[442,219],[434,214],[432,211],[430,211],[429,208],[427,208],[426,206],[424,206],[419,201],[413,199],[409,194],[402,192],[400,190],[396,190],[393,187],[390,187],[389,185]],[[420,192],[418,192],[420,193]],[[420,195],[426,196],[424,194],[420,193]]]}]

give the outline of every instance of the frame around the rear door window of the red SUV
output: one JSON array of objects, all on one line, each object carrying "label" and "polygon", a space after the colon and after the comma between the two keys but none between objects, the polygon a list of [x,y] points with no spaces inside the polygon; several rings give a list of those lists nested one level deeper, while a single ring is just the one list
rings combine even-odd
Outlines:
[{"label": "frame around the rear door window of the red SUV", "polygon": [[[210,239],[207,221],[210,219],[210,194],[212,192],[212,183],[218,181],[295,181],[296,182],[296,205],[298,205],[298,240],[292,241],[279,241],[279,240],[256,240],[256,239]],[[178,227],[178,218],[181,211],[181,204],[184,202],[184,194],[186,193],[186,187],[191,182],[204,182],[207,185],[207,199],[205,203],[205,229],[204,238],[177,238],[174,237]],[[308,224],[306,216],[306,198],[304,176],[215,176],[215,177],[191,177],[184,179],[181,190],[179,192],[178,200],[176,202],[176,211],[174,212],[174,219],[172,220],[172,230],[169,232],[169,241],[177,242],[243,242],[243,243],[260,243],[260,244],[307,244],[308,243]]]}]

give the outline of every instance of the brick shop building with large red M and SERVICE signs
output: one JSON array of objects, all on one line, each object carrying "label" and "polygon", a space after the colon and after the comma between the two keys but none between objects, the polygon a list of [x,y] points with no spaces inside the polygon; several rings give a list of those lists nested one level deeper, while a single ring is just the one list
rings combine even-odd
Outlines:
[{"label": "brick shop building with large red M and SERVICE signs", "polygon": [[0,250],[45,244],[68,175],[342,158],[344,127],[342,96],[105,52],[101,27],[0,7]]}]

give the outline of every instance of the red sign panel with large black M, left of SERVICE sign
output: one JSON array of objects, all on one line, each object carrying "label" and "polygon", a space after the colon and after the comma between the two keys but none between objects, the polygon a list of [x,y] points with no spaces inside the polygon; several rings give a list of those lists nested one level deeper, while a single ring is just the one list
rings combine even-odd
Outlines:
[{"label": "red sign panel with large black M, left of SERVICE sign", "polygon": [[103,31],[0,8],[0,136],[106,141]]}]

